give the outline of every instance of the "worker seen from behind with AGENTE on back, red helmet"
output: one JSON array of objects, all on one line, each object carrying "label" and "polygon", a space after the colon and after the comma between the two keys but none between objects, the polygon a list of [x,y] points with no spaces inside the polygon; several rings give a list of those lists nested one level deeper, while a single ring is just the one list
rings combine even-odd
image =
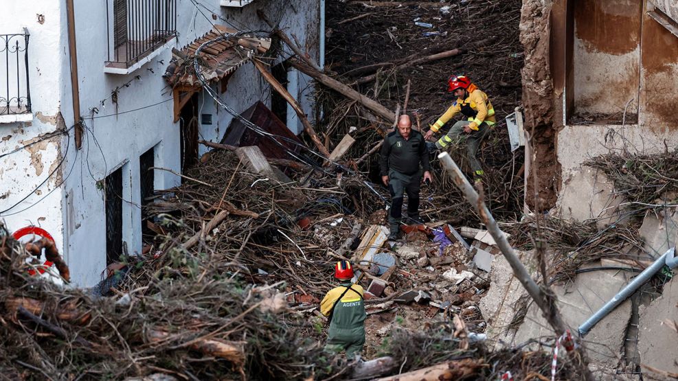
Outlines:
[{"label": "worker seen from behind with AGENTE on back, red helmet", "polygon": [[346,357],[353,358],[365,345],[365,318],[368,315],[363,303],[363,288],[352,284],[353,268],[348,261],[337,262],[335,278],[339,279],[340,286],[332,288],[320,302],[320,312],[330,321],[325,349],[346,350]]}]

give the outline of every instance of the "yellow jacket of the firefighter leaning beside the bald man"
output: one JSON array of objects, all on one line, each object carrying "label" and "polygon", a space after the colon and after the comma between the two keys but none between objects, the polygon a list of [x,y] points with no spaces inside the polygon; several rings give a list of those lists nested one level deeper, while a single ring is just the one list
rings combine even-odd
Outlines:
[{"label": "yellow jacket of the firefighter leaning beside the bald man", "polygon": [[468,127],[471,130],[478,130],[478,126],[482,122],[485,122],[488,126],[492,126],[497,122],[495,119],[495,108],[490,103],[487,94],[480,91],[475,84],[468,86],[468,97],[465,100],[462,100],[462,98],[455,100],[452,106],[431,126],[431,130],[438,132],[442,126],[458,113],[462,113],[468,118],[468,121],[471,122],[468,124]]}]

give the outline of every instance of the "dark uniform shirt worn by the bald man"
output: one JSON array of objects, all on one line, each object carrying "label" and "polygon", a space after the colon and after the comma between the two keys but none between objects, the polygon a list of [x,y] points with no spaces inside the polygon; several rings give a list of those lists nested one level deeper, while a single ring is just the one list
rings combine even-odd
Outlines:
[{"label": "dark uniform shirt worn by the bald man", "polygon": [[419,165],[424,171],[430,170],[429,150],[421,132],[411,130],[409,139],[400,135],[396,129],[384,138],[379,161],[381,176],[387,176],[389,168],[402,174],[412,175],[419,172]]}]

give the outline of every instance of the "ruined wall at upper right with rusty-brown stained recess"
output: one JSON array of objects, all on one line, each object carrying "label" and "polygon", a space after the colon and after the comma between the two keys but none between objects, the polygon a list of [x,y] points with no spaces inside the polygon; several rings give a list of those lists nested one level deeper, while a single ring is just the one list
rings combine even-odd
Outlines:
[{"label": "ruined wall at upper right with rusty-brown stained recess", "polygon": [[[664,0],[523,3],[523,102],[530,108],[526,129],[536,128],[533,172],[542,203],[536,209],[555,207],[557,199],[564,217],[610,216],[609,184],[583,163],[610,152],[673,150],[676,19],[678,6]],[[581,203],[584,196],[591,203]],[[526,203],[534,207],[532,197]]]}]

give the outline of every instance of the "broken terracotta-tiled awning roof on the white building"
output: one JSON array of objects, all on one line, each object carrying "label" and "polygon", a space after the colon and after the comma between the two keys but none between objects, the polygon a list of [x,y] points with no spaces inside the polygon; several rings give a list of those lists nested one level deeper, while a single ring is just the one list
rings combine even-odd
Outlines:
[{"label": "broken terracotta-tiled awning roof on the white building", "polygon": [[222,25],[214,28],[181,50],[172,49],[172,61],[163,76],[172,87],[201,86],[193,67],[196,50],[216,38],[227,36],[223,41],[208,45],[200,51],[201,74],[207,82],[217,82],[233,73],[238,67],[250,60],[255,54],[266,52],[271,47],[271,38],[262,38],[253,34],[239,34]]}]

